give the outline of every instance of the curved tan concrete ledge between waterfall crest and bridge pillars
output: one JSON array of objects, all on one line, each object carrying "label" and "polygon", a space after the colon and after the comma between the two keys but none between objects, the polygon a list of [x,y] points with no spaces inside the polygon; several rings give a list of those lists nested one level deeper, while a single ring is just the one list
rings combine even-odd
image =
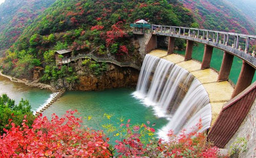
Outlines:
[{"label": "curved tan concrete ledge between waterfall crest and bridge pillars", "polygon": [[211,124],[213,124],[223,105],[231,98],[234,90],[232,85],[228,81],[217,82],[218,73],[216,71],[210,68],[201,70],[201,63],[194,60],[184,61],[184,57],[181,55],[167,55],[167,51],[160,49],[152,50],[148,54],[177,64],[193,74],[202,83],[209,95],[212,108]]}]

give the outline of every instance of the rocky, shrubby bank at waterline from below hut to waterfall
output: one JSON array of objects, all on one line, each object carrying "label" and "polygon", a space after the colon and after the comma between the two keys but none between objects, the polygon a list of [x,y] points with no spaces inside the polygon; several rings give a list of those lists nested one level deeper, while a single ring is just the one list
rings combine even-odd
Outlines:
[{"label": "rocky, shrubby bank at waterline from below hut to waterfall", "polygon": [[78,81],[69,83],[64,78],[51,82],[55,89],[68,89],[80,91],[97,91],[119,87],[136,87],[139,71],[130,67],[119,67],[114,64],[106,64],[106,70],[95,75],[88,66],[75,63],[72,68],[76,71]]}]

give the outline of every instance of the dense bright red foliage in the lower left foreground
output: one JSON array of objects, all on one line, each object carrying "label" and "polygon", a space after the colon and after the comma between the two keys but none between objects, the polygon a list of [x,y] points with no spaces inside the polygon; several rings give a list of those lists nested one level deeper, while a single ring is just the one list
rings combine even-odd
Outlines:
[{"label": "dense bright red foliage in the lower left foreground", "polygon": [[32,128],[11,123],[0,139],[0,157],[111,157],[102,131],[81,128],[81,118],[68,111],[65,117],[35,119]]}]

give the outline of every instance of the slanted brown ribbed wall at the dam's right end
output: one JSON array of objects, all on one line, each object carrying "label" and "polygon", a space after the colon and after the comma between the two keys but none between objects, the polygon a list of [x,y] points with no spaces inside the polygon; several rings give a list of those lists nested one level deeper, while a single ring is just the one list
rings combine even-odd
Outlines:
[{"label": "slanted brown ribbed wall at the dam's right end", "polygon": [[[256,96],[256,83],[224,104],[221,113],[212,126],[208,139],[219,148],[224,148],[232,139],[250,111]],[[249,134],[248,131],[243,131]],[[255,142],[254,142],[255,143]]]}]

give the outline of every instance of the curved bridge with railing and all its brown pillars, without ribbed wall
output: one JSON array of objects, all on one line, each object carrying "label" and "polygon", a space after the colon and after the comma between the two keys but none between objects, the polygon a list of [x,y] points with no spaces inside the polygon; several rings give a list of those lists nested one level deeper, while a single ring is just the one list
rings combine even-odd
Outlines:
[{"label": "curved bridge with railing and all its brown pillars, without ribbed wall", "polygon": [[256,58],[254,58],[255,52],[249,52],[249,48],[252,47],[251,43],[256,42],[256,36],[154,24],[150,32],[152,36],[146,42],[145,52],[157,48],[157,36],[169,37],[168,54],[174,52],[175,38],[185,39],[187,40],[185,61],[192,57],[194,42],[205,44],[201,69],[210,67],[214,47],[224,50],[224,58],[218,77],[219,82],[228,80],[233,57],[237,56],[243,60],[243,66],[232,98],[250,86],[256,69]]}]

